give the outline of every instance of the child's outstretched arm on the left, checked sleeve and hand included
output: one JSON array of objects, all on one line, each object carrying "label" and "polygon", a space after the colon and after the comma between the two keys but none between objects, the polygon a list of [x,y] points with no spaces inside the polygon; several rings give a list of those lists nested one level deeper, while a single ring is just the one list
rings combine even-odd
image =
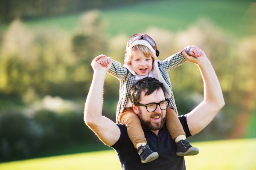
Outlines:
[{"label": "child's outstretched arm on the left, checked sleeve and hand included", "polygon": [[[111,57],[106,57],[105,55],[101,55],[96,61],[101,64],[103,67],[108,67]],[[128,69],[125,67],[121,67],[121,63],[113,60],[110,70],[108,71],[113,77],[116,77],[119,80],[125,80],[127,76]]]}]

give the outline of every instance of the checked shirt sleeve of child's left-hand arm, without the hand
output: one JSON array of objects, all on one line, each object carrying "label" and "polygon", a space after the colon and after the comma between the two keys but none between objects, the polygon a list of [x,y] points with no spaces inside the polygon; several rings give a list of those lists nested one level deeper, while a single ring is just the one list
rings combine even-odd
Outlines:
[{"label": "checked shirt sleeve of child's left-hand arm, without the hand", "polygon": [[124,81],[127,77],[128,69],[125,67],[121,67],[121,63],[117,62],[115,60],[112,60],[113,63],[111,65],[111,68],[109,69],[108,73],[111,74],[113,77],[116,77],[117,79]]}]

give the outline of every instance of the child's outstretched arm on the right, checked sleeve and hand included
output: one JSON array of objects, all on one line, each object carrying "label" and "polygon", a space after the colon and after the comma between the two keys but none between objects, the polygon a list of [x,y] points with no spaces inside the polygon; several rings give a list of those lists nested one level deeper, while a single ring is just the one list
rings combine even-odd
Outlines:
[{"label": "child's outstretched arm on the right, checked sleeve and hand included", "polygon": [[[188,46],[190,48],[190,46]],[[185,49],[185,51],[187,51],[187,49]],[[193,57],[200,57],[200,52],[197,48],[194,48],[194,46],[192,48],[189,49],[189,54]],[[163,66],[163,68],[166,69],[166,71],[170,71],[173,68],[182,65],[184,62],[186,61],[185,57],[183,56],[183,54],[181,52],[178,52],[170,57],[168,57],[167,59],[163,60],[160,62],[160,65]]]}]

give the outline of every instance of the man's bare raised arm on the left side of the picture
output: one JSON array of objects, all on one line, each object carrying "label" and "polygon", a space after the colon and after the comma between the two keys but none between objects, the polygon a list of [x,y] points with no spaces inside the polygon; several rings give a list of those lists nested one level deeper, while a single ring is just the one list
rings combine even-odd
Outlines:
[{"label": "man's bare raised arm on the left side of the picture", "polygon": [[[98,56],[98,58],[100,58]],[[91,63],[94,74],[93,81],[88,93],[85,108],[84,108],[84,122],[90,127],[99,137],[99,139],[111,146],[117,142],[120,137],[119,127],[110,119],[102,116],[102,102],[103,102],[103,85],[104,79],[108,70],[112,65],[112,60],[108,68],[103,67],[97,61],[97,57]]]}]

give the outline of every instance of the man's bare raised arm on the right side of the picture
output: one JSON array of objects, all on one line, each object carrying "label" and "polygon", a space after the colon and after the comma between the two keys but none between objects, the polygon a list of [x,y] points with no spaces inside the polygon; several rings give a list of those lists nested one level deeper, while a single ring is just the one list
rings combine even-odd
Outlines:
[{"label": "man's bare raised arm on the right side of the picture", "polygon": [[204,51],[201,51],[201,57],[198,57],[198,59],[187,55],[184,50],[182,50],[182,54],[189,62],[198,65],[204,80],[204,101],[187,114],[189,131],[191,135],[194,135],[203,130],[212,121],[225,102],[218,78]]}]

